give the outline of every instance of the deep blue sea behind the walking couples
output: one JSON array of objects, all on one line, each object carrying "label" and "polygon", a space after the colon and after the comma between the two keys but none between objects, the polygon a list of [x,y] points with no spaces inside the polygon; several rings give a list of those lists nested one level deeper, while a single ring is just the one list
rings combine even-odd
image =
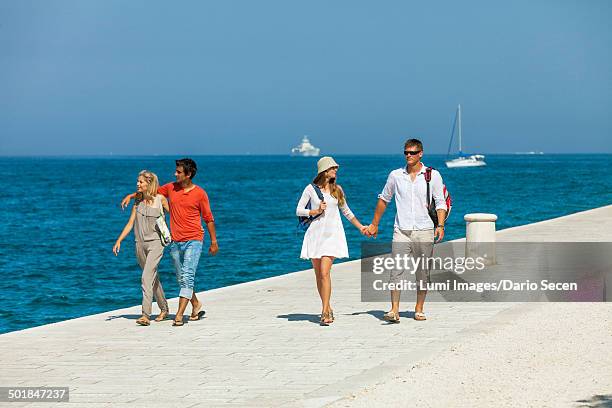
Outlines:
[{"label": "deep blue sea behind the walking couples", "polygon": [[[138,305],[141,270],[133,235],[119,256],[113,244],[129,217],[121,199],[138,172],[174,180],[178,157],[3,157],[0,221],[0,333]],[[316,175],[317,158],[193,156],[194,182],[211,201],[219,253],[200,261],[198,291],[309,269],[299,259],[303,234],[295,207]],[[388,173],[401,155],[337,155],[338,183],[364,224],[372,219]],[[487,155],[482,168],[447,169],[443,155],[423,162],[440,170],[453,198],[445,239],[465,236],[466,213],[498,215],[497,229],[612,204],[612,155]],[[391,204],[379,240],[391,239]],[[349,259],[366,239],[348,221]],[[338,260],[337,262],[346,261]],[[333,276],[333,270],[332,270]],[[178,286],[168,254],[160,264],[168,297]],[[314,285],[314,278],[313,278]],[[206,302],[206,296],[204,295]],[[154,310],[156,310],[154,306]]]}]

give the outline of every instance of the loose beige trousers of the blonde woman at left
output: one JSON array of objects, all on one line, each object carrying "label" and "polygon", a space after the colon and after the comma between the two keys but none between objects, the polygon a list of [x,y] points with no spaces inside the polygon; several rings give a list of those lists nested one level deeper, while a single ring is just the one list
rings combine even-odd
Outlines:
[{"label": "loose beige trousers of the blonde woman at left", "polygon": [[168,311],[168,302],[162,288],[157,266],[164,255],[164,247],[159,239],[154,241],[136,241],[136,258],[142,268],[142,314],[151,316],[153,296],[162,312]]}]

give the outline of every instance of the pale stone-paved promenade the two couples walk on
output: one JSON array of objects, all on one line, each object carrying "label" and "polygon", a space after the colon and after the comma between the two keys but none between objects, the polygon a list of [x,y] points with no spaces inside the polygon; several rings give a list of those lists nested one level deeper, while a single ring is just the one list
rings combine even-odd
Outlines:
[{"label": "pale stone-paved promenade the two couples walk on", "polygon": [[[612,206],[498,232],[504,241],[611,241]],[[319,407],[520,316],[517,303],[427,304],[429,320],[360,301],[359,261],[334,266],[331,327],[312,270],[203,294],[206,318],[140,327],[140,307],[0,336],[0,386],[68,386],[70,403],[9,407]],[[412,305],[406,305],[411,307]],[[170,302],[176,310],[176,299]]]}]

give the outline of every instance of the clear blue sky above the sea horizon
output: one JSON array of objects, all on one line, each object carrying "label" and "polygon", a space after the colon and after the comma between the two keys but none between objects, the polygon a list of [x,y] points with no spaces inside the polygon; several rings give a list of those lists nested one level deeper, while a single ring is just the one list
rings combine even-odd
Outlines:
[{"label": "clear blue sky above the sea horizon", "polygon": [[612,152],[612,2],[2,1],[0,155]]}]

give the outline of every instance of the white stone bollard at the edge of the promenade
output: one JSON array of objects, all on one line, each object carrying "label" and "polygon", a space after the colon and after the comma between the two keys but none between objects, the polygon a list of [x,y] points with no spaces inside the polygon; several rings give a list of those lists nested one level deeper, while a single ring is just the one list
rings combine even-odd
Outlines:
[{"label": "white stone bollard at the edge of the promenade", "polygon": [[484,258],[486,265],[495,264],[495,214],[466,214],[465,256]]}]

